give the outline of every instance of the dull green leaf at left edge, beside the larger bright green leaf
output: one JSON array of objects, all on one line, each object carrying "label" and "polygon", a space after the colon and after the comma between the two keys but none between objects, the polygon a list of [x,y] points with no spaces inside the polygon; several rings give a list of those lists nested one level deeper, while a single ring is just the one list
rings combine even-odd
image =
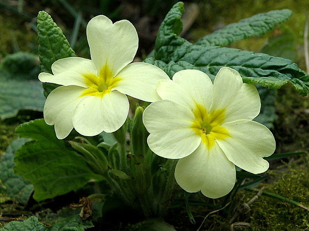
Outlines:
[{"label": "dull green leaf at left edge, beside the larger bright green leaf", "polygon": [[1,156],[0,161],[0,181],[5,189],[0,187],[0,192],[16,199],[19,203],[26,205],[32,192],[32,184],[22,177],[15,175],[13,171],[14,154],[29,139],[18,138],[7,147],[6,153]]}]

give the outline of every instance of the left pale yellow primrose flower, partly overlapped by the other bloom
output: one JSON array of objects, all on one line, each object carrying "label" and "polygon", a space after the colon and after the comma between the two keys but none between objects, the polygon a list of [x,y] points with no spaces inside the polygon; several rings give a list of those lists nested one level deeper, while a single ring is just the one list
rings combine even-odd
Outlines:
[{"label": "left pale yellow primrose flower, partly overlapped by the other bloom", "polygon": [[91,59],[70,57],[57,60],[54,75],[40,73],[42,82],[59,86],[47,97],[44,119],[55,125],[56,136],[63,139],[73,127],[84,136],[115,132],[126,121],[129,101],[125,94],[153,102],[159,79],[169,77],[146,63],[132,63],[138,49],[138,34],[127,20],[116,23],[104,16],[92,18],[87,25]]}]

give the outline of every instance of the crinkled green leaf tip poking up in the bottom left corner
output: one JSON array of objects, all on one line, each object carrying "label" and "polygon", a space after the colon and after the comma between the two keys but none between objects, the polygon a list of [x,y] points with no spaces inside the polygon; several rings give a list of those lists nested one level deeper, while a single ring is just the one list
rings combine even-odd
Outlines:
[{"label": "crinkled green leaf tip poking up in the bottom left corner", "polygon": [[40,223],[36,217],[23,222],[10,222],[0,231],[48,231],[48,227]]}]

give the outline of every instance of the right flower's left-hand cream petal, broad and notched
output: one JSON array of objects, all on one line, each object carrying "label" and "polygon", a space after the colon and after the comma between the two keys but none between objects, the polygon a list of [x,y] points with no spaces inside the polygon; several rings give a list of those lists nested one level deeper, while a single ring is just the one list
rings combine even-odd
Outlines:
[{"label": "right flower's left-hand cream petal, broad and notched", "polygon": [[192,112],[182,105],[169,100],[155,101],[143,115],[145,127],[151,133],[147,140],[149,147],[165,158],[191,154],[201,142],[200,136],[190,128],[193,120]]}]

